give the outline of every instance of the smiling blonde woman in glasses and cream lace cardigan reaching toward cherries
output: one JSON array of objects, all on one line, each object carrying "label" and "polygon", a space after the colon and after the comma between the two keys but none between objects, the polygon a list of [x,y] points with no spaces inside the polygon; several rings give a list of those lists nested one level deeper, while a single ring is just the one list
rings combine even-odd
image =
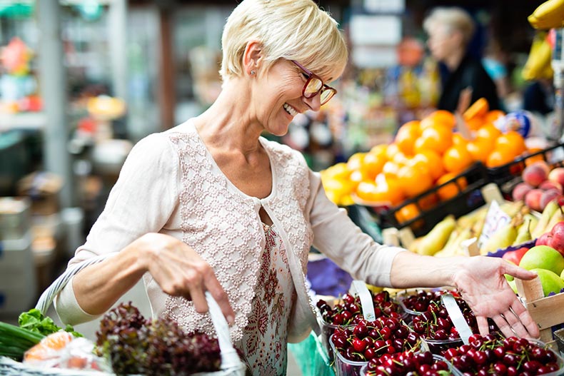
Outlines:
[{"label": "smiling blonde woman in glasses and cream lace cardigan reaching toward cherries", "polygon": [[313,244],[373,285],[458,287],[483,332],[493,317],[507,333],[538,335],[503,276],[533,273],[500,259],[438,260],[378,245],[326,198],[300,153],[261,138],[282,136],[297,113],[336,93],[328,83],[343,73],[347,49],[326,12],[311,0],[244,0],[222,44],[216,102],[131,151],[70,264],[116,255],[59,294],[61,320],[101,315],[143,278],[154,316],[213,333],[203,314],[209,290],[252,372],[284,375],[286,342],[315,325],[304,281]]}]

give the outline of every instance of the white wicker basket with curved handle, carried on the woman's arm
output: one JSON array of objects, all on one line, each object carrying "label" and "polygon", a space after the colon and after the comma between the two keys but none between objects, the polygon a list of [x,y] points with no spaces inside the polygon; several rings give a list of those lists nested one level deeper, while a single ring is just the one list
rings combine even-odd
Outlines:
[{"label": "white wicker basket with curved handle, carried on the woman's arm", "polygon": [[[112,257],[116,253],[109,253],[106,255],[96,256],[95,258],[90,258],[82,263],[74,265],[72,268],[67,268],[67,270],[57,278],[54,283],[52,283],[49,288],[47,288],[44,293],[41,294],[39,300],[36,304],[36,308],[45,314],[47,309],[53,303],[54,298],[57,294],[64,288],[67,282],[72,278],[73,275],[78,273],[80,270],[86,268],[89,265],[99,263],[106,258]],[[206,300],[208,301],[209,313],[211,321],[213,322],[213,327],[216,329],[219,348],[221,350],[221,370],[217,372],[201,372],[193,374],[194,376],[243,376],[245,375],[246,367],[243,362],[239,359],[236,350],[233,348],[231,343],[231,337],[229,335],[229,327],[223,313],[221,313],[221,308],[213,299],[210,293],[206,291]],[[107,372],[98,372],[91,370],[66,370],[61,368],[39,368],[33,367],[31,365],[26,365],[25,363],[16,362],[11,360],[9,357],[0,357],[0,376],[115,376],[114,374]]]}]

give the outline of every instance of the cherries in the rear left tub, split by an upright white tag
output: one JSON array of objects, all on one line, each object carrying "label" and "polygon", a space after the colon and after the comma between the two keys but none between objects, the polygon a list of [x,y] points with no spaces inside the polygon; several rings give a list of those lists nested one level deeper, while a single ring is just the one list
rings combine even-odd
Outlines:
[{"label": "cherries in the rear left tub, split by an upright white tag", "polygon": [[[402,309],[398,303],[390,298],[388,291],[381,291],[371,295],[376,318],[381,316],[401,317]],[[320,299],[317,302],[317,308],[321,313],[323,321],[327,324],[355,325],[360,320],[363,320],[361,298],[358,295],[355,296],[349,293],[343,295],[343,301],[333,308],[325,300]]]}]

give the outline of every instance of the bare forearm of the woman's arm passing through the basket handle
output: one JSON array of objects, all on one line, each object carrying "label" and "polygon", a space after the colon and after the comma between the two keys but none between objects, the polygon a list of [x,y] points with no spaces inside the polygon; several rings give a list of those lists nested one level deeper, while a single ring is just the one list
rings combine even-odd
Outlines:
[{"label": "bare forearm of the woman's arm passing through the basket handle", "polygon": [[90,265],[72,280],[76,302],[90,315],[109,310],[146,272],[134,245],[101,263]]}]

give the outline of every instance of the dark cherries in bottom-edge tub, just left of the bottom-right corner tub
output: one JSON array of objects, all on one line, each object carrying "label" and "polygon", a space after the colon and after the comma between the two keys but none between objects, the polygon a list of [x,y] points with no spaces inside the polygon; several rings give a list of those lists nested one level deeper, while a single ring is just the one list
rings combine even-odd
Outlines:
[{"label": "dark cherries in bottom-edge tub, just left of the bottom-right corner tub", "polygon": [[396,352],[368,361],[365,376],[440,376],[450,375],[444,360],[425,352]]}]

